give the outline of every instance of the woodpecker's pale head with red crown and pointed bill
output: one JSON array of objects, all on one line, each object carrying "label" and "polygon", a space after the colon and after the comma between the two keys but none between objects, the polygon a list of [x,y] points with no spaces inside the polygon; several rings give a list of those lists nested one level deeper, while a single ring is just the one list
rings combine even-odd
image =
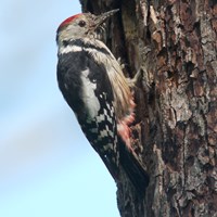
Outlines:
[{"label": "woodpecker's pale head with red crown and pointed bill", "polygon": [[80,13],[66,18],[58,28],[58,44],[78,38],[94,38],[102,24],[117,11],[118,9],[112,10],[98,16],[91,13]]}]

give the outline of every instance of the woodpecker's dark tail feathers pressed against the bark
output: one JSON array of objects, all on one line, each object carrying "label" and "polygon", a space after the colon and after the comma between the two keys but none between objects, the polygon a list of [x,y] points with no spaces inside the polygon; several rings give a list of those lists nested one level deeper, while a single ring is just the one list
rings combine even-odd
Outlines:
[{"label": "woodpecker's dark tail feathers pressed against the bark", "polygon": [[119,164],[139,194],[144,194],[149,184],[149,175],[137,154],[119,141]]}]

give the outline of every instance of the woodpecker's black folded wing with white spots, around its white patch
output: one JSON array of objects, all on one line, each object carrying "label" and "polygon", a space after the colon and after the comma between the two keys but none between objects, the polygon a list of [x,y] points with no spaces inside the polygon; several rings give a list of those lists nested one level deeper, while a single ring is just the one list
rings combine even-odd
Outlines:
[{"label": "woodpecker's black folded wing with white spots, around its white patch", "polygon": [[[87,74],[85,79],[95,87],[94,95],[100,106],[94,116],[89,114],[90,110],[84,101],[84,89],[86,88],[81,78],[84,72]],[[114,97],[105,68],[97,64],[93,56],[86,51],[65,53],[59,56],[58,81],[84,133],[116,179],[119,159],[116,117],[113,105]]]}]

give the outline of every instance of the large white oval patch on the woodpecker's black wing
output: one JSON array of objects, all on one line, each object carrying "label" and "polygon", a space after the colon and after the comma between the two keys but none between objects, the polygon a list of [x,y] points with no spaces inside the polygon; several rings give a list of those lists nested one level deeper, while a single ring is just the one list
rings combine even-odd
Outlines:
[{"label": "large white oval patch on the woodpecker's black wing", "polygon": [[97,89],[97,84],[93,84],[88,78],[89,69],[81,72],[81,81],[82,81],[82,98],[88,111],[88,116],[94,118],[98,116],[100,110],[100,102],[95,97],[94,90]]}]

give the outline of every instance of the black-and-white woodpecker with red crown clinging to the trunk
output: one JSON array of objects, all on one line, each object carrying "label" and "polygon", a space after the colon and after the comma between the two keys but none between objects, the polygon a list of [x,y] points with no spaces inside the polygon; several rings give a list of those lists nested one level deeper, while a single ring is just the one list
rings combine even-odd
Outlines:
[{"label": "black-and-white woodpecker with red crown clinging to the trunk", "polygon": [[58,28],[58,82],[81,130],[116,182],[120,168],[136,189],[143,191],[149,177],[130,145],[135,119],[130,82],[99,29],[118,10],[101,15],[80,13]]}]

